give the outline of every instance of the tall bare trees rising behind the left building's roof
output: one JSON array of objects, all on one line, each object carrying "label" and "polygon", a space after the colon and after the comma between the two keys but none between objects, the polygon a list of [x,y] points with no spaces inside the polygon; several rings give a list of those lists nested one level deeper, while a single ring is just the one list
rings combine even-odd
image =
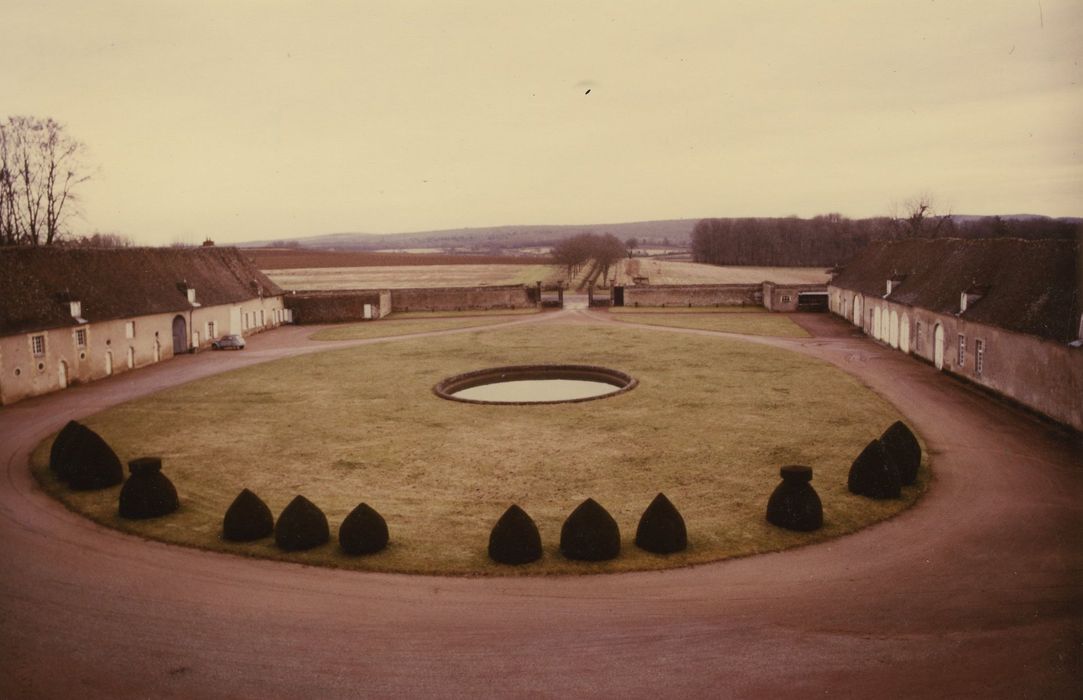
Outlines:
[{"label": "tall bare trees rising behind the left building's roof", "polygon": [[84,154],[54,119],[0,122],[0,245],[53,245],[67,234],[76,187],[90,179]]}]

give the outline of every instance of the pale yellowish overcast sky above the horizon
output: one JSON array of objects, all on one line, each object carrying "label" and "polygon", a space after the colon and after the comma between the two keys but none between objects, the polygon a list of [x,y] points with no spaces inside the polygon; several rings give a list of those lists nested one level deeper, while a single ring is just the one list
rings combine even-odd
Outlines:
[{"label": "pale yellowish overcast sky above the horizon", "polygon": [[141,245],[1083,216],[1083,1],[0,2],[0,118]]}]

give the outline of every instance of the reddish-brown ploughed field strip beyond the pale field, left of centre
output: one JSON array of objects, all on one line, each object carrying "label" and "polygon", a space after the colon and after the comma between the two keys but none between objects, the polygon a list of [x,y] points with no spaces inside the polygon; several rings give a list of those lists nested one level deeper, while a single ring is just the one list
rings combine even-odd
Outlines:
[{"label": "reddish-brown ploughed field strip beyond the pale field, left of centre", "polygon": [[260,270],[301,268],[389,268],[399,265],[538,264],[545,256],[448,255],[435,248],[404,251],[332,251],[308,248],[246,248]]}]

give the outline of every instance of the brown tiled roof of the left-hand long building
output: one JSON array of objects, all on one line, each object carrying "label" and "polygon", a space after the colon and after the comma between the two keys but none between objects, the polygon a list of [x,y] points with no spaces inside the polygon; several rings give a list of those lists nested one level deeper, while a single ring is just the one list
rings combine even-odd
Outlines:
[{"label": "brown tiled roof of the left-hand long building", "polygon": [[[186,285],[186,286],[185,286]],[[236,248],[0,248],[0,335],[187,311],[282,289]]]}]

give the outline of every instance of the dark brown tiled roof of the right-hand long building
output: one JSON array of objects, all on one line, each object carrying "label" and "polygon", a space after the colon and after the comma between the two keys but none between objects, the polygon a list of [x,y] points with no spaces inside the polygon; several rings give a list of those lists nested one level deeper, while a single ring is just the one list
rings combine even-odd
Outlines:
[{"label": "dark brown tiled roof of the right-hand long building", "polygon": [[[859,252],[832,285],[967,321],[1070,342],[1079,337],[1077,241],[911,238]],[[962,293],[980,298],[960,313]]]}]

